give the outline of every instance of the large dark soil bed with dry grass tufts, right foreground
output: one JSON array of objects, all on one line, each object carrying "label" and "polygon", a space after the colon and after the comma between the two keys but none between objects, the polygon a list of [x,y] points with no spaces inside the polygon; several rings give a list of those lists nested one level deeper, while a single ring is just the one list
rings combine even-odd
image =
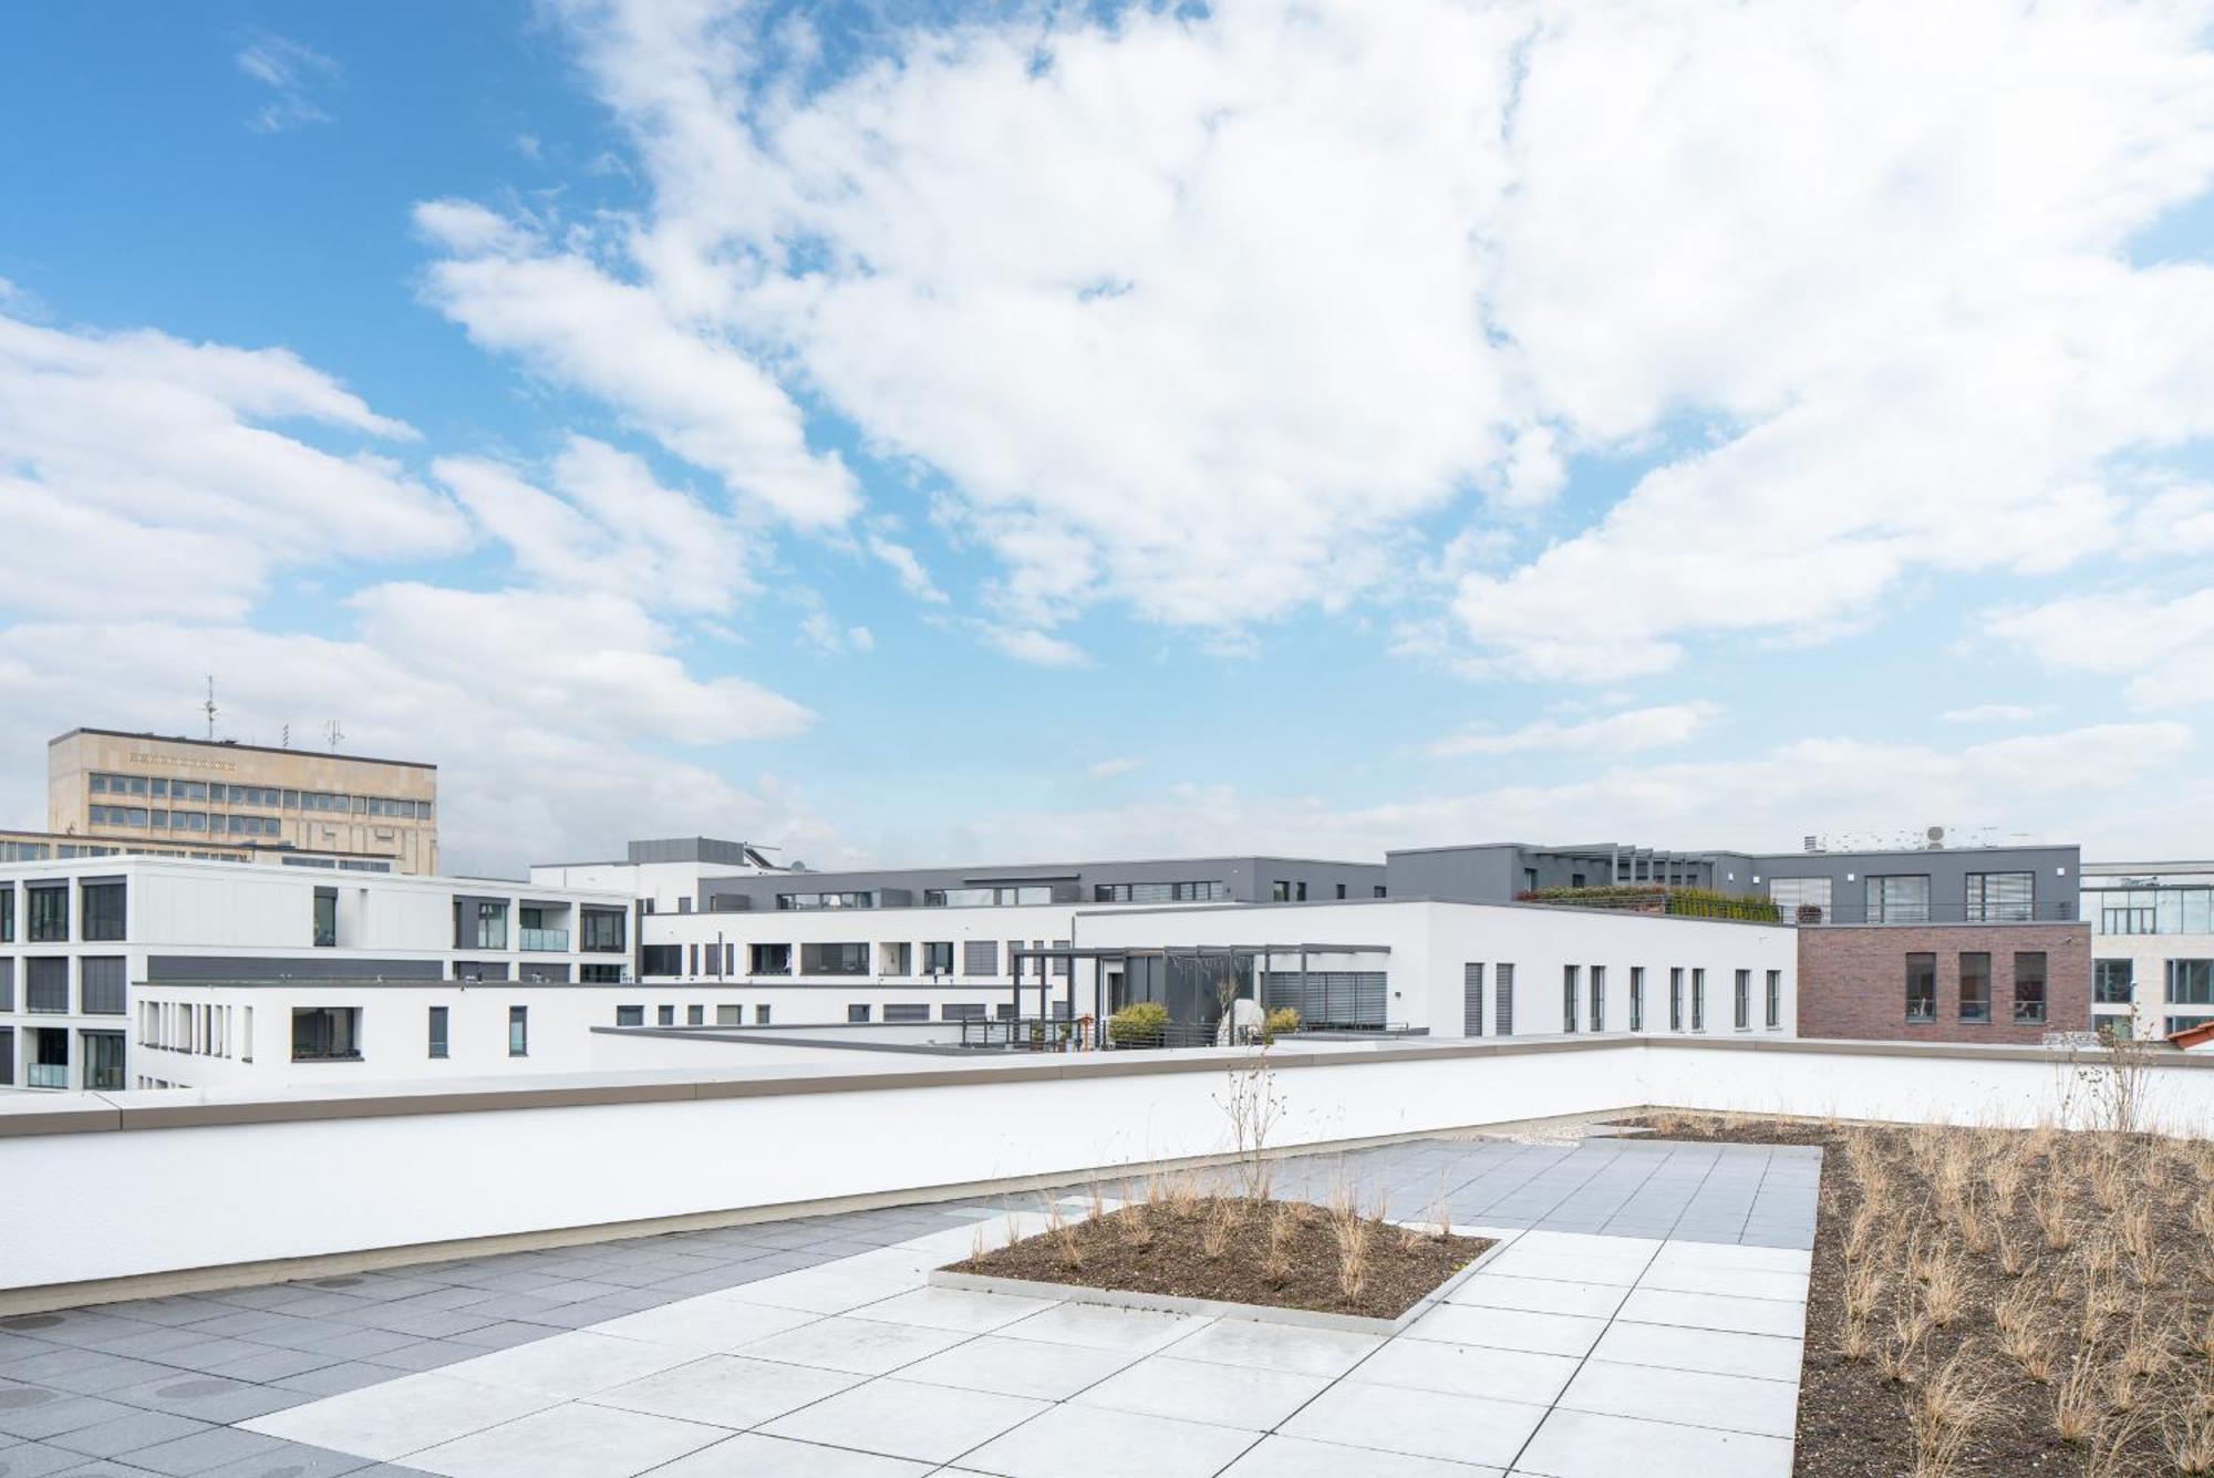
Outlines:
[{"label": "large dark soil bed with dry grass tufts, right foreground", "polygon": [[[1822,1146],[1822,1201],[1807,1292],[1807,1354],[1800,1367],[1796,1478],[1951,1478],[2210,1471],[2185,1467],[2174,1447],[2214,1458],[2214,1148],[2150,1135],[1889,1128],[1809,1120],[1747,1120],[1654,1113],[1623,1120],[1658,1139]],[[1858,1142],[1858,1146],[1855,1146]],[[1946,1159],[1955,1164],[1946,1168]],[[2001,1159],[2015,1159],[2013,1175]],[[1966,1168],[1962,1168],[1966,1166]],[[1860,1261],[1884,1288],[1862,1319],[1871,1347],[1846,1352],[1853,1221],[1866,1204],[1864,1175],[1884,1186],[1866,1217]],[[2103,1179],[2103,1190],[2101,1190]],[[2019,1182],[2019,1184],[2013,1184]],[[2055,1248],[2032,1201],[2059,1212],[2068,1246]],[[2137,1226],[2125,1239],[2123,1228]],[[2137,1241],[2137,1250],[2128,1243]],[[2013,1246],[2013,1270],[2006,1246]],[[1964,1297],[1944,1323],[1928,1321],[1928,1281],[1915,1250],[1959,1270]],[[2143,1252],[2150,1250],[2150,1257]],[[1928,1261],[1924,1261],[1924,1272]],[[2101,1290],[2110,1312],[2086,1314]],[[2028,1325],[2050,1356],[2044,1381],[2008,1354],[1999,1305],[2030,1310]],[[1908,1345],[1904,1381],[1884,1354]],[[2130,1350],[2137,1345],[2139,1359]],[[2150,1370],[2130,1365],[2156,1352]],[[1957,1374],[1986,1401],[1966,1423],[1951,1467],[1917,1467],[1911,1407],[1959,1356]],[[2090,1432],[2063,1440],[2057,1416],[2077,1363]]]}]

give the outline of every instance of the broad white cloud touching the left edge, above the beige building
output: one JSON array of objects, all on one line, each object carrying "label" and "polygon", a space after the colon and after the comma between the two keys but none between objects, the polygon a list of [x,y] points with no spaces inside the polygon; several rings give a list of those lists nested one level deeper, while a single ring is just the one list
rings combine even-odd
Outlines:
[{"label": "broad white cloud touching the left edge, above the beige building", "polygon": [[[283,427],[283,429],[279,429]],[[237,617],[283,564],[449,553],[463,518],[394,460],[292,434],[410,443],[286,350],[0,316],[0,604],[42,617]]]}]

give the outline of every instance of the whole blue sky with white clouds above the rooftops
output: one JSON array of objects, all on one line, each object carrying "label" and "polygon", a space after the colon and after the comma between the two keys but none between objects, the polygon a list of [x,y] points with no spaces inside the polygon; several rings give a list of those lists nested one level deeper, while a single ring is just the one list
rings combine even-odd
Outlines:
[{"label": "whole blue sky with white clouds above the rooftops", "polygon": [[2207,856],[2210,22],[9,7],[0,823]]}]

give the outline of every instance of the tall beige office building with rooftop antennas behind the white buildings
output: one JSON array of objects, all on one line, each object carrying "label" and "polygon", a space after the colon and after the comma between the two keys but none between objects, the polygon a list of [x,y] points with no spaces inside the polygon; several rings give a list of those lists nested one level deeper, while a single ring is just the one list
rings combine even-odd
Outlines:
[{"label": "tall beige office building with rooftop antennas behind the white buildings", "polygon": [[46,832],[427,874],[438,872],[438,766],[73,728],[46,743]]}]

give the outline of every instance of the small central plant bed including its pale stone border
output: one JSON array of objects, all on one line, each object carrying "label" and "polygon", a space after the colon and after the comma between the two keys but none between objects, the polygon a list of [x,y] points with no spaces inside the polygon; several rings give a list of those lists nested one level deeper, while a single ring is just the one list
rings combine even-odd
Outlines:
[{"label": "small central plant bed including its pale stone border", "polygon": [[[1397,1334],[1499,1241],[1399,1226],[1351,1206],[1187,1195],[1061,1219],[930,1274],[937,1288]],[[1346,1248],[1359,1277],[1346,1277]]]}]

